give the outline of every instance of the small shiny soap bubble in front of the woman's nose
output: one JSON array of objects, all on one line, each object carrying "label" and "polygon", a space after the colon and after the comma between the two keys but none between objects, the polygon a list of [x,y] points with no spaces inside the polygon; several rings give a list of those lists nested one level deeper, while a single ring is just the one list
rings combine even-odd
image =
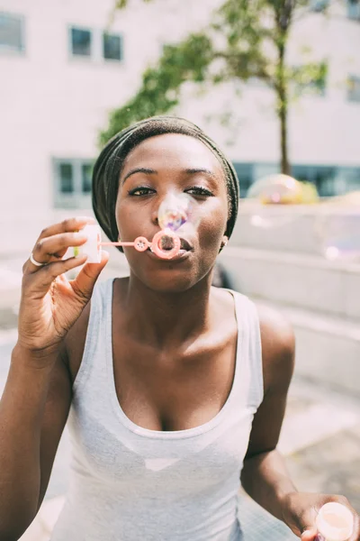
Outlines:
[{"label": "small shiny soap bubble in front of the woman's nose", "polygon": [[188,194],[170,194],[158,207],[157,220],[161,229],[177,231],[185,224],[199,223],[198,204]]}]

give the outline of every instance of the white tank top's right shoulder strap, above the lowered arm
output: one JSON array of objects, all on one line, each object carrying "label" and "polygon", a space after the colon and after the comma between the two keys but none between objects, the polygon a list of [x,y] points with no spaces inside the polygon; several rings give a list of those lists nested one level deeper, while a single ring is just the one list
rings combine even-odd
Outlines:
[{"label": "white tank top's right shoulder strap, above the lowered arm", "polygon": [[246,407],[257,409],[264,398],[260,323],[255,303],[242,293],[230,290],[238,321],[237,393]]}]

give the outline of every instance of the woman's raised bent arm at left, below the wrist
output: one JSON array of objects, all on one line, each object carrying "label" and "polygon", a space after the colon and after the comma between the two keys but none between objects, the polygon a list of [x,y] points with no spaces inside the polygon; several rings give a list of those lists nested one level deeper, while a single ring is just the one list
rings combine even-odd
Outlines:
[{"label": "woman's raised bent arm at left, below the wrist", "polygon": [[67,420],[67,367],[58,352],[40,361],[15,346],[0,401],[1,541],[18,539],[35,518]]}]

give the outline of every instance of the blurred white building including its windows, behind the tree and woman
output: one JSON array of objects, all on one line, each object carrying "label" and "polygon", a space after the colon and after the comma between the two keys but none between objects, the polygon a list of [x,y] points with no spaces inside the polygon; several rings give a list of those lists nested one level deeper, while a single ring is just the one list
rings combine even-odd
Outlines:
[{"label": "blurred white building including its windows, behind the tree and woman", "polygon": [[[289,58],[329,60],[329,76],[320,94],[293,104],[289,131],[294,176],[331,196],[360,186],[360,4],[333,0],[326,18],[317,13],[324,2],[313,0],[297,23]],[[112,18],[114,0],[0,0],[0,254],[29,248],[63,209],[91,207],[108,112],[130,98],[164,43],[201,28],[220,3],[130,0]],[[223,86],[199,99],[190,86],[178,112],[222,143],[245,193],[278,170],[279,127],[268,88],[255,80],[236,90],[241,97]]]}]

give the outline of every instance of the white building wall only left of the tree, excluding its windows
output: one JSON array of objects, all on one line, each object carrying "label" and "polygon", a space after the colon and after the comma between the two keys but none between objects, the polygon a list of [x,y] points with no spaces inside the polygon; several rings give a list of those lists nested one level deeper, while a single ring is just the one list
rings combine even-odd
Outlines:
[{"label": "white building wall only left of the tree, excluding its windows", "polygon": [[123,35],[122,62],[71,57],[68,26],[104,30],[113,4],[112,0],[0,1],[0,11],[23,15],[25,22],[25,53],[0,51],[5,188],[0,224],[6,227],[0,252],[15,246],[20,250],[29,231],[33,235],[39,224],[53,219],[53,158],[94,159],[97,134],[108,112],[131,96],[143,69],[157,59],[170,36],[179,39],[181,32],[196,28],[207,16],[206,11],[197,14],[196,6],[189,9],[176,0],[151,6],[132,0],[131,9],[117,14],[111,26],[111,32]]}]

